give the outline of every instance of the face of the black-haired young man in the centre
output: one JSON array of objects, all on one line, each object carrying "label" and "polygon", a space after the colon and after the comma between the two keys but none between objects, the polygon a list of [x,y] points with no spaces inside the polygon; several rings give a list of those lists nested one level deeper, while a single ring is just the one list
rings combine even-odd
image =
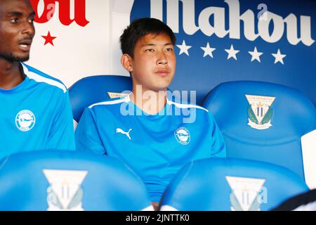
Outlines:
[{"label": "face of the black-haired young man in the centre", "polygon": [[173,79],[176,56],[167,34],[147,34],[136,43],[131,59],[133,85],[143,91],[164,91]]}]

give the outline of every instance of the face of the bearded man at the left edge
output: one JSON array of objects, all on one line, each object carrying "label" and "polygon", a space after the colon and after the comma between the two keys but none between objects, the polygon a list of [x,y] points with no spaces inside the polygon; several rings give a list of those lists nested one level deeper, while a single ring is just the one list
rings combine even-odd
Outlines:
[{"label": "face of the bearded man at the left edge", "polygon": [[25,61],[35,34],[29,0],[0,0],[0,59]]}]

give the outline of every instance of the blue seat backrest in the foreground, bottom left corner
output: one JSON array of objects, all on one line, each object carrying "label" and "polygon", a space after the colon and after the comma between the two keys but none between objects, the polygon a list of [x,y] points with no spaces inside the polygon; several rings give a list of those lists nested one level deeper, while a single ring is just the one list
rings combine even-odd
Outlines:
[{"label": "blue seat backrest in the foreground, bottom left corner", "polygon": [[0,210],[153,210],[122,162],[92,153],[36,151],[0,163]]}]

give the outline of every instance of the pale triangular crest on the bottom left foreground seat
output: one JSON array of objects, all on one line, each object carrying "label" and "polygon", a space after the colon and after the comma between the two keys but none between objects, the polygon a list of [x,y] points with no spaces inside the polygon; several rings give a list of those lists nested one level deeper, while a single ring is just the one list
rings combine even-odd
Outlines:
[{"label": "pale triangular crest on the bottom left foreground seat", "polygon": [[48,211],[83,211],[81,183],[87,171],[43,169],[47,188]]}]

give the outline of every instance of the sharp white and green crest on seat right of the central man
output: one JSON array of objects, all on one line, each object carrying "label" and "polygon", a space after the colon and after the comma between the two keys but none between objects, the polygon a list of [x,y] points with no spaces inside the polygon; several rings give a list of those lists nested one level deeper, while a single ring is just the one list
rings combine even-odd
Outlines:
[{"label": "sharp white and green crest on seat right of the central man", "polygon": [[246,95],[249,102],[248,125],[254,129],[269,129],[272,127],[272,103],[275,97]]}]

